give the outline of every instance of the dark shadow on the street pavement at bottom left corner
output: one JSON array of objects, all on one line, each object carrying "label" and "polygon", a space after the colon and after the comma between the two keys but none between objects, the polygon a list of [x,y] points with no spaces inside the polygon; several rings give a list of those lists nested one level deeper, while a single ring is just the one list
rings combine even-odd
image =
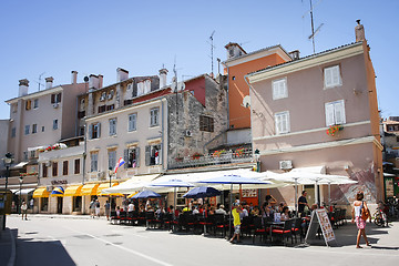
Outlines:
[{"label": "dark shadow on the street pavement at bottom left corner", "polygon": [[32,238],[17,239],[17,266],[24,265],[76,265],[60,241],[32,241]]}]

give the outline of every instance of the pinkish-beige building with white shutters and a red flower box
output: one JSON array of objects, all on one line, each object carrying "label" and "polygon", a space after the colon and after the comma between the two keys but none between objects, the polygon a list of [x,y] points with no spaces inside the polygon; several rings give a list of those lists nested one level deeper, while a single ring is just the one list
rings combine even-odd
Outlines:
[{"label": "pinkish-beige building with white shutters and a red flower box", "polygon": [[[375,71],[361,24],[356,35],[355,43],[246,76],[262,171],[321,166],[358,181],[332,187],[338,204],[351,202],[358,190],[372,203],[383,195]],[[320,201],[327,202],[327,187],[320,190]],[[294,205],[291,187],[273,193]]]}]

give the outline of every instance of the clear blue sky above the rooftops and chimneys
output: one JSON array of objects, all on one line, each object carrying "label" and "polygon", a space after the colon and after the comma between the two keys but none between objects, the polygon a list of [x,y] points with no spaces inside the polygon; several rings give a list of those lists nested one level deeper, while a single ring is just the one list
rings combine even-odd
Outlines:
[{"label": "clear blue sky above the rooftops and chimneys", "polygon": [[[365,27],[381,116],[399,115],[399,1],[313,0],[316,52],[355,42],[356,20]],[[18,96],[19,80],[29,92],[53,76],[54,85],[90,74],[115,83],[116,69],[130,76],[155,75],[164,65],[168,82],[212,71],[226,60],[225,45],[246,52],[282,44],[286,51],[313,53],[309,0],[2,0],[0,2],[0,120],[10,116],[4,101]],[[222,65],[221,65],[222,71]],[[40,78],[41,76],[41,78]],[[43,89],[43,86],[42,86]]]}]

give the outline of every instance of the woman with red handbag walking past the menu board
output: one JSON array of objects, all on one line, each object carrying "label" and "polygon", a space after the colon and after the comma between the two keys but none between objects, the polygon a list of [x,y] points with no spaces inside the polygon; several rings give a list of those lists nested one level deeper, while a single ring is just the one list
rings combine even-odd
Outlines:
[{"label": "woman with red handbag walking past the menu board", "polygon": [[352,214],[352,223],[356,222],[356,226],[358,228],[358,235],[356,238],[356,248],[361,248],[360,244],[360,236],[362,235],[365,241],[366,241],[366,245],[367,246],[371,246],[370,243],[367,239],[366,236],[366,221],[368,218],[367,214],[369,215],[369,211],[367,207],[366,202],[364,202],[365,195],[362,192],[359,192],[356,195],[356,201],[354,202],[354,207],[351,211]]}]

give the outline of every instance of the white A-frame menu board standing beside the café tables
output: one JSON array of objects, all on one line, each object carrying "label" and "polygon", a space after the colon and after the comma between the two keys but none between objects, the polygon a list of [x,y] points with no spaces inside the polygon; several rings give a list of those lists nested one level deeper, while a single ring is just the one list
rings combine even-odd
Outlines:
[{"label": "white A-frame menu board standing beside the caf\u00e9 tables", "polygon": [[321,229],[327,246],[329,246],[331,242],[336,241],[331,223],[325,208],[318,208],[311,212],[310,224],[305,242],[310,244],[311,241],[315,241],[319,228]]}]

